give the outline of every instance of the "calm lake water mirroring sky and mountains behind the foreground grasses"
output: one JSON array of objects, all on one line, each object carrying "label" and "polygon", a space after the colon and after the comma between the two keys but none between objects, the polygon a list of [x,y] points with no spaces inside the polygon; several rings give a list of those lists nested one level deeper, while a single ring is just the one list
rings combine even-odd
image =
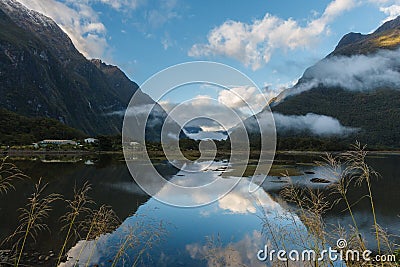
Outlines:
[{"label": "calm lake water mirroring sky and mountains behind the foreground grasses", "polygon": [[[279,157],[286,166],[303,173],[292,177],[294,184],[324,189],[326,184],[314,184],[310,180],[324,178],[334,181],[334,177],[321,167],[307,164],[314,159],[295,155]],[[71,162],[62,162],[66,160]],[[115,231],[101,235],[96,241],[71,244],[68,248],[68,261],[62,266],[74,266],[77,258],[79,266],[87,263],[88,266],[111,266],[118,253],[120,254],[115,266],[218,266],[218,263],[222,266],[265,266],[267,263],[257,259],[257,252],[264,245],[273,246],[274,239],[282,238],[283,233],[297,240],[307,236],[307,228],[298,215],[292,212],[292,205],[280,196],[282,188],[287,186],[285,177],[267,177],[262,188],[252,194],[248,192],[250,179],[242,178],[232,192],[212,204],[197,208],[178,208],[160,203],[145,194],[136,185],[125,162],[119,157],[78,157],[58,161],[37,159],[15,163],[34,181],[43,177],[48,183],[48,192],[57,192],[66,198],[72,197],[75,184],[82,185],[89,181],[93,187],[91,197],[98,205],[111,206],[121,220]],[[220,167],[227,165],[224,161],[208,162],[212,164],[210,171],[193,176],[178,172],[164,161],[155,163],[159,173],[176,183],[218,177],[224,172]],[[382,176],[373,182],[378,223],[389,234],[399,235],[400,156],[371,156],[368,163]],[[26,198],[33,191],[32,184],[29,181],[18,182],[16,191],[1,196],[2,239],[17,226],[16,210],[25,205]],[[162,193],[161,190],[160,194]],[[349,195],[351,201],[356,202],[365,193],[364,188],[354,188]],[[199,199],[201,197],[205,196],[193,196]],[[59,232],[58,218],[65,213],[64,206],[63,203],[55,205],[48,219],[51,232],[41,233],[37,243],[30,244],[27,251],[38,250],[44,254],[59,251],[65,234]],[[360,232],[368,241],[368,247],[376,249],[370,210],[366,199],[357,202],[353,208]],[[351,224],[351,217],[341,204],[324,214],[324,219],[328,231],[333,231],[333,225]],[[285,243],[286,249],[301,248],[300,244],[291,242],[290,238]],[[121,248],[124,248],[123,251]]]}]

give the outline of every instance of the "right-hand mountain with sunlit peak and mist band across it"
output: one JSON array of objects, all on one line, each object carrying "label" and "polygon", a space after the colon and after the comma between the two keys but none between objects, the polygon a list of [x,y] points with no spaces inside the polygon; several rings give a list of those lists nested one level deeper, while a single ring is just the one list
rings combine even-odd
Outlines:
[{"label": "right-hand mountain with sunlit peak and mist band across it", "polygon": [[400,17],[369,35],[347,34],[327,58],[273,100],[271,109],[331,116],[359,129],[342,137],[348,142],[400,148],[399,46]]}]

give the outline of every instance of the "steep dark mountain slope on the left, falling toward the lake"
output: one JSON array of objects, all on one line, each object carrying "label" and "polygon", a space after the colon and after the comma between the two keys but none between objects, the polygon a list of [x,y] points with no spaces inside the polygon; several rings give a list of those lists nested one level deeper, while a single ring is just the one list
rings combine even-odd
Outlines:
[{"label": "steep dark mountain slope on the left, falling toward the lake", "polygon": [[0,2],[0,107],[113,134],[122,127],[116,112],[136,91],[144,104],[154,103],[117,67],[87,60],[48,17],[15,0]]}]

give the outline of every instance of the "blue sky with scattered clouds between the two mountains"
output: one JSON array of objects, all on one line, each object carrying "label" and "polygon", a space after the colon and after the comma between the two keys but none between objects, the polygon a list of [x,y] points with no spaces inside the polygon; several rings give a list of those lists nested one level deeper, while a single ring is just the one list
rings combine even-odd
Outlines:
[{"label": "blue sky with scattered clouds between the two mountains", "polygon": [[[52,17],[87,57],[118,65],[138,84],[177,63],[212,60],[274,91],[295,82],[347,32],[371,32],[400,11],[398,0],[19,1]],[[231,44],[210,42],[213,32]]]}]

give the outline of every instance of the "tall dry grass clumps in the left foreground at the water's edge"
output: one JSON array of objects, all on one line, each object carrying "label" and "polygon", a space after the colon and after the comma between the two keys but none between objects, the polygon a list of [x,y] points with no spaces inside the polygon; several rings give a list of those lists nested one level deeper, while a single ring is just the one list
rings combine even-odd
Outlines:
[{"label": "tall dry grass clumps in the left foreground at the water's edge", "polygon": [[[7,162],[7,158],[3,159],[0,163],[0,194],[6,195],[10,190],[17,190],[15,181],[29,178],[16,165]],[[91,190],[91,185],[86,182],[80,188],[74,187],[71,199],[64,199],[60,194],[48,192],[48,184],[39,179],[34,184],[33,193],[27,198],[26,205],[17,210],[19,223],[16,229],[0,243],[3,251],[11,253],[7,255],[7,260],[0,258],[0,266],[27,265],[24,262],[25,258],[30,256],[25,252],[27,246],[36,243],[43,231],[50,232],[47,220],[50,219],[56,201],[65,202],[66,213],[60,217],[62,224],[60,233],[65,233],[65,236],[54,259],[54,265],[58,266],[66,260],[65,255],[69,246],[74,245],[77,240],[83,240],[84,244],[79,255],[74,259],[75,262],[71,263],[76,266],[84,260],[83,263],[79,263],[79,266],[82,264],[89,266],[100,237],[114,231],[121,224],[110,206],[101,205],[96,208],[96,203],[89,196]],[[120,266],[122,258],[128,258],[133,262],[132,266],[138,265],[145,252],[159,242],[165,233],[166,229],[162,222],[150,225],[144,221],[138,222],[131,227],[128,234],[124,235],[112,266]],[[89,242],[92,246],[89,248],[88,258],[80,259]],[[135,254],[131,254],[133,251]],[[51,265],[52,262],[48,264]]]}]

